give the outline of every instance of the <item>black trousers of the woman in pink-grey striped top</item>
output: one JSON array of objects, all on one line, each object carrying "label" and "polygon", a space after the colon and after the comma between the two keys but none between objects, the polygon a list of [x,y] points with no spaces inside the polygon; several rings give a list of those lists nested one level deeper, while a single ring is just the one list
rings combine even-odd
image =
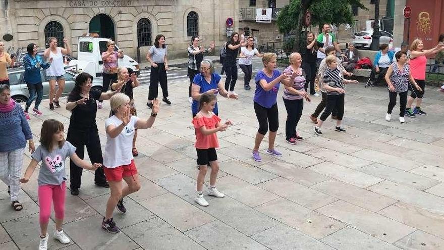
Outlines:
[{"label": "black trousers of the woman in pink-grey striped top", "polygon": [[[284,98],[283,98],[284,99]],[[287,100],[284,99],[285,109],[287,110],[287,121],[285,123],[286,140],[296,137],[296,127],[302,116],[304,108],[304,100]]]}]

